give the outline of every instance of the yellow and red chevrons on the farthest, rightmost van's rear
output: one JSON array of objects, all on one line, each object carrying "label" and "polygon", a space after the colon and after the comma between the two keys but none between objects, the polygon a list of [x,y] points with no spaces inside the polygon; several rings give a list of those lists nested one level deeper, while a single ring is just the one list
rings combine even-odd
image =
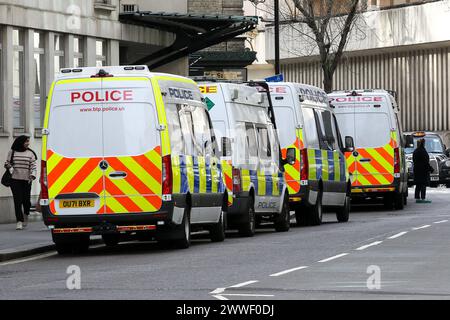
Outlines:
[{"label": "yellow and red chevrons on the farthest, rightmost van's rear", "polygon": [[[352,174],[352,186],[390,185],[394,182],[394,148],[397,147],[396,133],[391,132],[388,144],[379,148],[356,149],[358,156],[346,152],[345,158],[349,173]],[[371,159],[361,162],[361,159]]]}]

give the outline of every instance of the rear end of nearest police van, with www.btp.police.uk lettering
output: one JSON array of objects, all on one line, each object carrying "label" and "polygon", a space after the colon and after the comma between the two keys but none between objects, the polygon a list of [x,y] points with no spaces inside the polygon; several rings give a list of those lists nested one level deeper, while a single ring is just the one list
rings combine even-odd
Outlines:
[{"label": "rear end of nearest police van, with www.btp.police.uk lettering", "polygon": [[147,67],[63,69],[44,128],[41,204],[54,234],[156,228],[144,223],[164,184]]}]

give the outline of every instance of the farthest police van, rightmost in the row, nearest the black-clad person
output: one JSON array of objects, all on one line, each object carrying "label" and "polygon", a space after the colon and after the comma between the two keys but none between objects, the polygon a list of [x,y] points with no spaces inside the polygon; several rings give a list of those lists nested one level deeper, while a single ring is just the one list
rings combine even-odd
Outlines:
[{"label": "farthest police van, rightmost in the row, nearest the black-clad person", "polygon": [[408,184],[399,107],[386,90],[349,90],[329,94],[344,135],[354,137],[347,152],[352,196],[383,198],[387,208],[403,209]]}]

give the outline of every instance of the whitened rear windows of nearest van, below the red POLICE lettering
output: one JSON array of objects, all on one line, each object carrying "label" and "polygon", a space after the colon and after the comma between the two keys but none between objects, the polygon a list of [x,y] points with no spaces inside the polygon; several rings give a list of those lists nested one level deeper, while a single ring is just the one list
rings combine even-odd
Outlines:
[{"label": "whitened rear windows of nearest van, below the red POLICE lettering", "polygon": [[48,147],[69,158],[143,154],[159,145],[153,109],[142,102],[54,106]]}]

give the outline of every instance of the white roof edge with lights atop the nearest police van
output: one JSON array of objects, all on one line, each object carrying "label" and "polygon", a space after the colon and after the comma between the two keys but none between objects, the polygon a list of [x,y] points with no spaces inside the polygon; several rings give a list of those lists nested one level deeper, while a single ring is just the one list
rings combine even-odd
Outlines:
[{"label": "white roof edge with lights atop the nearest police van", "polygon": [[136,66],[128,65],[128,66],[62,68],[60,72],[56,75],[55,81],[61,79],[98,77],[99,72],[101,70],[103,70],[106,74],[110,74],[114,77],[147,76],[150,78],[154,76],[170,76],[172,78],[187,79],[186,77],[174,74],[150,72],[150,70],[146,65],[136,65]]}]

